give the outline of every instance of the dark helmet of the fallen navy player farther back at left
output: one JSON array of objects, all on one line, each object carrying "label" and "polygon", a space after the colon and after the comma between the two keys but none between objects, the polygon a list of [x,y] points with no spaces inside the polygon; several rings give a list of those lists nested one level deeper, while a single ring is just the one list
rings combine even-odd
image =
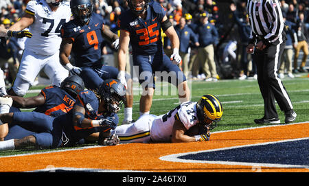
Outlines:
[{"label": "dark helmet of the fallen navy player farther back at left", "polygon": [[84,82],[80,76],[71,75],[61,82],[60,88],[75,98],[80,91],[84,91]]}]

